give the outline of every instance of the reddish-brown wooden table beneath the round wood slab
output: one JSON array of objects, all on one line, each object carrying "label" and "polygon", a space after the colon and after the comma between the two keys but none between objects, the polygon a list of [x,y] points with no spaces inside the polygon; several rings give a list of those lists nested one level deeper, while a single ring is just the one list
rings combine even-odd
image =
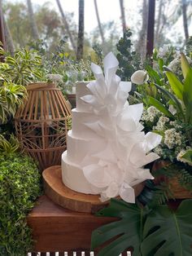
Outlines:
[{"label": "reddish-brown wooden table beneath the round wood slab", "polygon": [[115,219],[67,210],[41,196],[28,214],[28,225],[33,230],[36,252],[88,252],[92,231]]}]

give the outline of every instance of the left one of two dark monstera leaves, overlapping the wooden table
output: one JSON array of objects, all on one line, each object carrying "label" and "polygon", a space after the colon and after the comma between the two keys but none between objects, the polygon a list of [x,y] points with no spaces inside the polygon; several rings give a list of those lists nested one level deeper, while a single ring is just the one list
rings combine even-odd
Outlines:
[{"label": "left one of two dark monstera leaves, overlapping the wooden table", "polygon": [[[99,251],[98,256],[117,256],[129,247],[133,256],[140,256],[142,210],[133,204],[111,199],[110,205],[98,212],[98,216],[117,217],[120,220],[98,227],[92,234],[92,249],[116,238]],[[118,237],[117,237],[118,236]]]}]

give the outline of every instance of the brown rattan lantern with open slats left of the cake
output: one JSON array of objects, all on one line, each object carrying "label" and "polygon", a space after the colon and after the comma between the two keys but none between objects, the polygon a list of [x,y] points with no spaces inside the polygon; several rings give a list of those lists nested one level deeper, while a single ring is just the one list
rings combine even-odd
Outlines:
[{"label": "brown rattan lantern with open slats left of the cake", "polygon": [[60,165],[71,120],[68,103],[53,83],[30,84],[27,90],[28,99],[15,114],[16,135],[41,170]]}]

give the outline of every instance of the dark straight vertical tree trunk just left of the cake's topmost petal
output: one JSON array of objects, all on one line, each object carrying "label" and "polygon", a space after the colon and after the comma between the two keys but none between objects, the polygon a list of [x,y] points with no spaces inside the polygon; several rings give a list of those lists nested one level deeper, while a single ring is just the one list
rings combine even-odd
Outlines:
[{"label": "dark straight vertical tree trunk just left of the cake's topmost petal", "polygon": [[84,45],[84,0],[79,0],[79,31],[77,40],[76,60],[83,58]]}]

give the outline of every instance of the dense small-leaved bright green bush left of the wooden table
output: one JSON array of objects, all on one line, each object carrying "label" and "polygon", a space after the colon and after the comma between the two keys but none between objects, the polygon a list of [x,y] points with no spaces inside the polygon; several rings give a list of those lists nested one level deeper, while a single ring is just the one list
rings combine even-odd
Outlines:
[{"label": "dense small-leaved bright green bush left of the wooden table", "polygon": [[26,216],[41,194],[33,160],[20,153],[0,156],[0,255],[25,256],[32,247]]}]

